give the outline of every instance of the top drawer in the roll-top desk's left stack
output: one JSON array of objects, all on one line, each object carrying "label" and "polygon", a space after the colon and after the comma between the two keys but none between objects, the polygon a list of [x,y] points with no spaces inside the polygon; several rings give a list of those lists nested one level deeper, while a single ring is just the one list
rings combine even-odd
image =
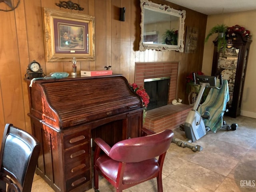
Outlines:
[{"label": "top drawer in the roll-top desk's left stack", "polygon": [[89,128],[64,135],[64,149],[74,147],[90,140]]}]

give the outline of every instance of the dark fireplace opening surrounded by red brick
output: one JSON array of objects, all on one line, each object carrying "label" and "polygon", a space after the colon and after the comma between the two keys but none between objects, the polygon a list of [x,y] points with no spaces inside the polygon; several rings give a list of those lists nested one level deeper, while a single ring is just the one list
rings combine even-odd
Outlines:
[{"label": "dark fireplace opening surrounded by red brick", "polygon": [[147,110],[167,105],[170,77],[144,79],[144,88],[149,96]]}]

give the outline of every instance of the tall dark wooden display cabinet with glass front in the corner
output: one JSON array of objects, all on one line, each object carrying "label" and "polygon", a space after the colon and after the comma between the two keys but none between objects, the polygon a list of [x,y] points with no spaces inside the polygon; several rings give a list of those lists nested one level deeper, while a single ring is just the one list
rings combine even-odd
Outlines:
[{"label": "tall dark wooden display cabinet with glass front in the corner", "polygon": [[[244,38],[240,32],[235,38],[228,38],[226,48],[217,51],[218,42],[214,41],[214,56],[212,62],[212,76],[222,74],[228,80],[230,100],[227,104],[226,115],[236,118],[241,113],[242,95],[246,66],[249,56],[251,40]],[[224,51],[222,51],[224,49]]]}]

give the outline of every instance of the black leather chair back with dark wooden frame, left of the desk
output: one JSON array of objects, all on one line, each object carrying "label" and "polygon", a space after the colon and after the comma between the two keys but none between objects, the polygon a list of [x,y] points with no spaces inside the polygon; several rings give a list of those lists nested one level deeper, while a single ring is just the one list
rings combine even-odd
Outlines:
[{"label": "black leather chair back with dark wooden frame, left of the desk", "polygon": [[[0,188],[5,190],[7,183],[9,188],[30,192],[39,153],[40,143],[34,136],[6,124],[0,151]],[[6,179],[5,175],[10,179]]]}]

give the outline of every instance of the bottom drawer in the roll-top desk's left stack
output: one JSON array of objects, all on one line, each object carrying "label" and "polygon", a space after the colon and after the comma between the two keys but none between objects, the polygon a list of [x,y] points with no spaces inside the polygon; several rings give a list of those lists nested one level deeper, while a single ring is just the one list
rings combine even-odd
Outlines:
[{"label": "bottom drawer in the roll-top desk's left stack", "polygon": [[66,191],[70,191],[86,182],[90,181],[90,170],[80,174],[72,179],[66,180]]}]

